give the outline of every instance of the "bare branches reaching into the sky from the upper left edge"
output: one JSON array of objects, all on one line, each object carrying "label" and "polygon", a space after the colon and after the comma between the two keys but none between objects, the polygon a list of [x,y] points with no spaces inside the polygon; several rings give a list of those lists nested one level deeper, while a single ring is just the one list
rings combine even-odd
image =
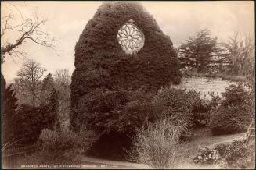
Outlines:
[{"label": "bare branches reaching into the sky from the upper left edge", "polygon": [[[35,44],[56,51],[56,46],[54,45],[56,39],[43,29],[49,19],[41,19],[37,12],[34,13],[34,16],[26,18],[20,12],[22,5],[10,2],[2,3],[5,4],[2,8],[8,9],[8,12],[3,12],[1,17],[1,63],[5,62],[6,55],[12,58],[26,57],[27,53],[21,50],[20,47],[27,41],[32,41]],[[19,21],[18,23],[16,22],[17,20]],[[16,40],[10,43],[7,34],[17,34]]]}]

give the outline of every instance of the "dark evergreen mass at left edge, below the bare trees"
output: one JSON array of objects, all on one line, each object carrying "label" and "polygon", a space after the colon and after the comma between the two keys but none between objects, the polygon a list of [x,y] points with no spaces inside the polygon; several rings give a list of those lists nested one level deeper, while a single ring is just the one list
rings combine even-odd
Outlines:
[{"label": "dark evergreen mass at left edge, below the bare trees", "polygon": [[[38,140],[42,129],[51,128],[56,122],[58,98],[56,90],[50,94],[48,104],[34,107],[16,104],[15,92],[9,86],[5,88],[2,76],[2,129],[3,144],[30,144]],[[7,146],[7,145],[6,145]]]}]

